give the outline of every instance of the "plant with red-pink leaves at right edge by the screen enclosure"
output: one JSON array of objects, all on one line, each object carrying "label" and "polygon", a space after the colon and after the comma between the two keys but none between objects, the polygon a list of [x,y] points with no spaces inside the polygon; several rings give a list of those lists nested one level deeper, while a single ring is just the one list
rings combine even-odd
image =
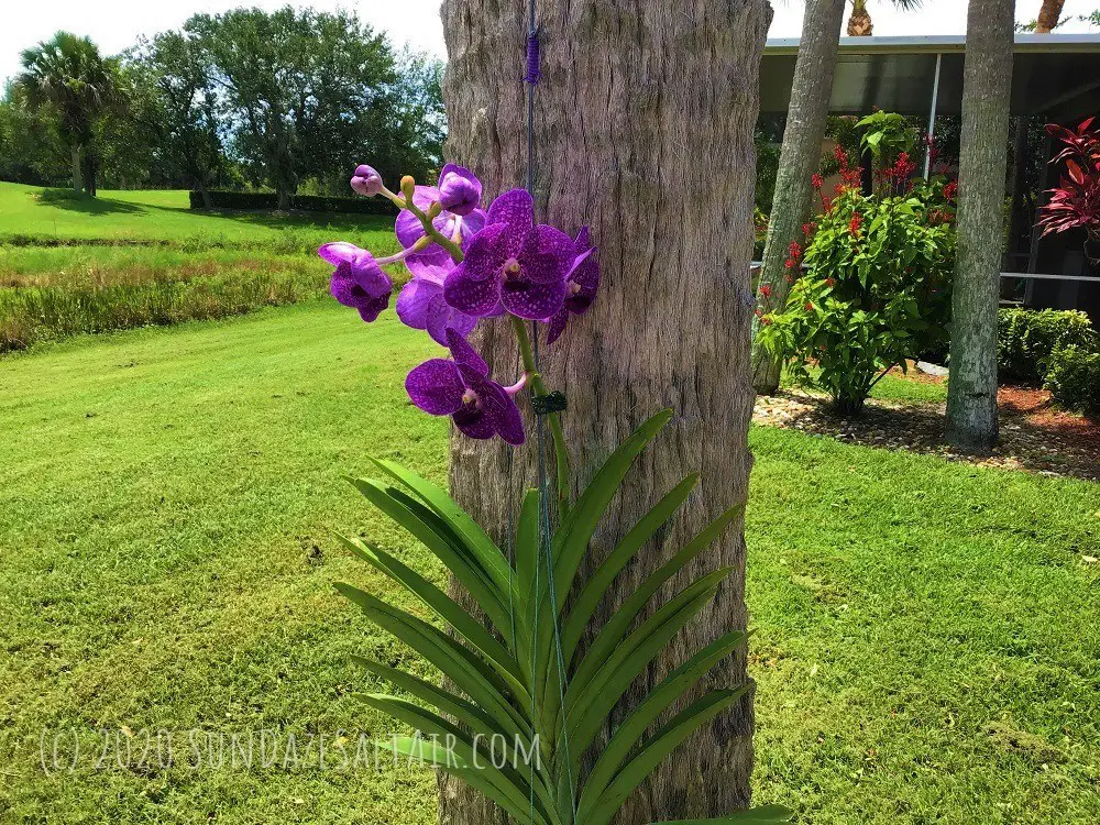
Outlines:
[{"label": "plant with red-pink leaves at right edge by the screen enclosure", "polygon": [[1062,184],[1048,190],[1050,200],[1040,209],[1043,237],[1052,232],[1084,229],[1088,240],[1100,242],[1100,130],[1089,118],[1077,131],[1056,123],[1046,128],[1065,147],[1050,163],[1066,164]]}]

